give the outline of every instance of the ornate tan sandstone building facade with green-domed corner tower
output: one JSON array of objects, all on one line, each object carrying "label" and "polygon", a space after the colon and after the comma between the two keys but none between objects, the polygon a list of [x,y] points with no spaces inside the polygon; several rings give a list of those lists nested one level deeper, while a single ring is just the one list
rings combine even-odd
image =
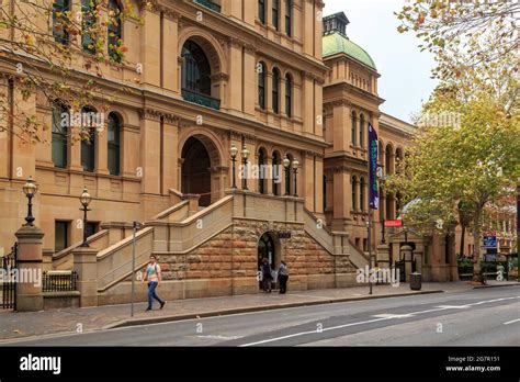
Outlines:
[{"label": "ornate tan sandstone building facade with green-domed corner tower", "polygon": [[[151,3],[135,1],[144,25],[126,19],[117,32],[128,64],[106,64],[100,81],[112,91],[138,72],[137,91],[118,93],[91,142],[72,143],[74,128],[56,127],[64,110],[38,97],[26,106],[53,126],[45,141],[26,144],[16,126],[0,135],[0,247],[8,251],[23,223],[21,188],[32,176],[44,269],[89,274],[83,305],[127,301],[134,221],[145,223],[137,268],[159,256],[168,299],[257,292],[261,257],[273,268],[285,259],[293,289],[354,284],[368,265],[368,123],[388,175],[415,127],[380,112],[380,72],[347,37],[344,14],[321,20],[320,0]],[[16,97],[10,78],[2,89]],[[237,173],[234,189],[231,147],[237,172],[246,159],[278,177],[250,170],[245,187]],[[87,255],[78,254],[83,188]],[[381,205],[374,251],[383,218],[399,210],[392,195]]]}]

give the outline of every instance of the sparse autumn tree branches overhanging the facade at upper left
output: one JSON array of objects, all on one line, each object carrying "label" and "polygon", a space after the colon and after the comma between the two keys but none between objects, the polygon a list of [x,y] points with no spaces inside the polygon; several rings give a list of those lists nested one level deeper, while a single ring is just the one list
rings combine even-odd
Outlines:
[{"label": "sparse autumn tree branches overhanging the facade at upper left", "polygon": [[[75,111],[94,100],[101,109],[113,101],[116,92],[102,91],[100,80],[108,68],[127,64],[127,47],[117,31],[126,18],[138,19],[135,1],[0,0],[0,133],[42,142],[42,132],[49,126],[37,119],[34,108],[23,106],[34,99],[48,104],[59,100]],[[137,77],[120,83],[117,91],[125,91]]]}]

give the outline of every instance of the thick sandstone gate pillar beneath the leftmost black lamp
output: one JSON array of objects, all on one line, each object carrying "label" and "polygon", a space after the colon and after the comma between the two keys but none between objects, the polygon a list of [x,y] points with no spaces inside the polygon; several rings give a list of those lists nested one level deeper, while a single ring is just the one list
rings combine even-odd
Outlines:
[{"label": "thick sandstone gate pillar beneath the leftmost black lamp", "polygon": [[[42,290],[43,237],[36,226],[23,226],[14,234],[18,239],[16,311],[37,312],[44,308]],[[41,282],[38,282],[38,280]]]}]

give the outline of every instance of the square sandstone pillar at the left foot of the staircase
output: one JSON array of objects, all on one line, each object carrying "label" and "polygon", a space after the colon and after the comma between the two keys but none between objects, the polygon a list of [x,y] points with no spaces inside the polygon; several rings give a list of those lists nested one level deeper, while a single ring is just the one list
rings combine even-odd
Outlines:
[{"label": "square sandstone pillar at the left foot of the staircase", "polygon": [[78,247],[72,250],[74,270],[78,273],[80,306],[98,306],[98,250]]}]

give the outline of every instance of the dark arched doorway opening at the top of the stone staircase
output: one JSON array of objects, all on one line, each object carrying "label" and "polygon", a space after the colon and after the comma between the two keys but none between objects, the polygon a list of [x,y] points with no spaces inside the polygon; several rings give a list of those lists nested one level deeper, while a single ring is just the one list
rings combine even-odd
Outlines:
[{"label": "dark arched doorway opening at the top of the stone staircase", "polygon": [[199,205],[211,204],[212,162],[206,147],[195,137],[190,137],[182,147],[182,193],[201,194]]}]

